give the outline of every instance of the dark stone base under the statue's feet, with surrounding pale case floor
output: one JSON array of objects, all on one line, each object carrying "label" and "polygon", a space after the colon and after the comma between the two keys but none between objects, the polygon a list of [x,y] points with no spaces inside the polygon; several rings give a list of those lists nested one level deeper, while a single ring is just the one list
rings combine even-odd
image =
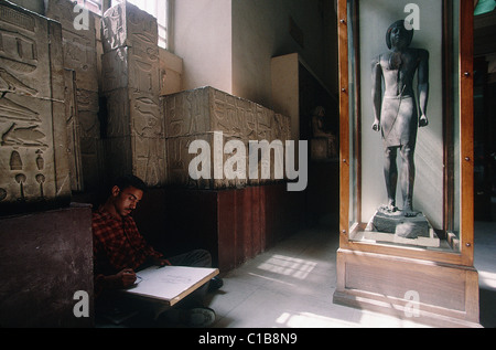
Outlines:
[{"label": "dark stone base under the statue's feet, with surrounding pale case floor", "polygon": [[422,212],[379,208],[365,229],[364,238],[428,247],[439,247],[440,240]]}]

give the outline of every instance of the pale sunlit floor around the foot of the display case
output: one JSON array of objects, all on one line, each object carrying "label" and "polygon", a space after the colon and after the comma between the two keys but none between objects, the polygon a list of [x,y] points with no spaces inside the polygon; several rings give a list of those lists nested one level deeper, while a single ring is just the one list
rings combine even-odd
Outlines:
[{"label": "pale sunlit floor around the foot of the display case", "polygon": [[[496,327],[496,223],[476,223],[481,324]],[[224,276],[209,295],[216,328],[427,327],[413,319],[335,305],[336,251],[330,230],[305,230]]]}]

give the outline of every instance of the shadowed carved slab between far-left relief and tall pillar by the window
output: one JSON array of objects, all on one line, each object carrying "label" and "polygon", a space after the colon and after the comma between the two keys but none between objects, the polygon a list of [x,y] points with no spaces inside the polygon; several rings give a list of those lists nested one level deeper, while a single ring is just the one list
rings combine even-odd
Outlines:
[{"label": "shadowed carved slab between far-left relief and tall pillar by the window", "polygon": [[[71,181],[74,191],[98,185],[103,178],[103,145],[98,120],[98,63],[96,15],[88,11],[87,28],[75,26],[79,11],[69,0],[45,1],[45,15],[62,24],[64,67],[73,71],[66,75],[66,94],[75,100],[67,109],[67,137],[71,146]],[[99,19],[98,19],[99,21]]]}]

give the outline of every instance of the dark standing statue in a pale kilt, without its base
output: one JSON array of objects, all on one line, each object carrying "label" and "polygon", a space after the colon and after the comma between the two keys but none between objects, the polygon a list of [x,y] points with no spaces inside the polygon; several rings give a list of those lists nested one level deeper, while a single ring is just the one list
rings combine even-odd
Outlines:
[{"label": "dark standing statue in a pale kilt, without its base", "polygon": [[[412,39],[413,30],[407,30],[403,20],[392,23],[386,33],[389,51],[375,57],[371,64],[375,117],[373,129],[381,132],[385,147],[384,174],[388,194],[386,210],[391,213],[398,211],[396,158],[399,149],[402,160],[400,169],[402,213],[406,216],[417,215],[412,205],[417,129],[429,124],[425,115],[429,96],[429,52],[410,49]],[[418,73],[418,100],[413,87],[416,73]]]}]

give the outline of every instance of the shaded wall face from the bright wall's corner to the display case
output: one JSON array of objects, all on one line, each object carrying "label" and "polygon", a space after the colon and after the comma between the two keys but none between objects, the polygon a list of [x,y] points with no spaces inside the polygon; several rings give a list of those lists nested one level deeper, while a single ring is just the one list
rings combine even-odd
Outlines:
[{"label": "shaded wall face from the bright wall's corner to the display case", "polygon": [[[332,0],[323,3],[325,15],[319,12],[319,0],[233,0],[235,95],[272,107],[270,60],[290,53],[299,53],[330,88],[335,86],[328,74],[337,68],[332,68],[336,61],[330,57],[334,7]],[[303,32],[303,47],[290,35],[290,18]]]}]

